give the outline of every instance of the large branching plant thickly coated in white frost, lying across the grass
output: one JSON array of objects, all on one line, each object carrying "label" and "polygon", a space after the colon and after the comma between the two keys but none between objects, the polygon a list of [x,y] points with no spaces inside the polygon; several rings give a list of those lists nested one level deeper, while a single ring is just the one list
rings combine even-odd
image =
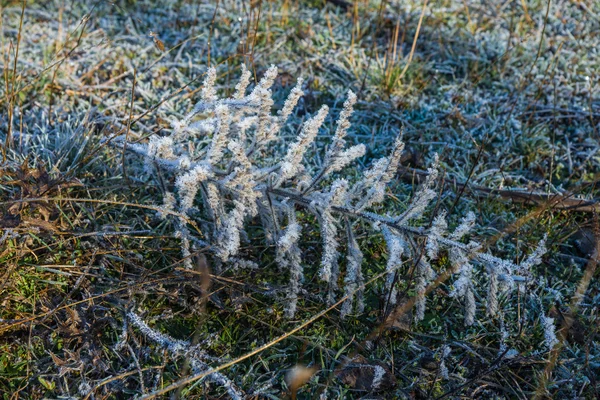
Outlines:
[{"label": "large branching plant thickly coated in white frost, lying across the grass", "polygon": [[[386,288],[392,304],[397,301],[396,270],[405,264],[414,266],[417,321],[425,316],[428,287],[441,272],[434,268],[434,261],[442,252],[448,254],[449,272],[457,275],[451,296],[464,304],[465,325],[476,320],[476,267],[487,275],[487,311],[496,315],[499,294],[514,289],[515,282],[527,281],[530,268],[541,261],[544,243],[516,265],[490,254],[473,240],[464,242],[475,223],[472,213],[452,231],[444,213],[436,215],[431,224],[420,223],[436,197],[437,156],[406,209],[395,215],[381,214],[378,206],[385,200],[404,149],[401,138],[396,139],[389,156],[375,160],[358,179],[345,178],[344,169],[365,153],[364,145],[346,143],[356,103],[356,95],[349,91],[318,167],[306,156],[327,118],[326,106],[308,118],[298,136],[281,151],[280,143],[275,142],[283,140],[287,120],[303,91],[299,80],[283,108],[273,115],[271,86],[276,76],[277,69],[269,68],[248,93],[250,72],[243,66],[233,96],[219,98],[216,70],[211,68],[200,100],[182,119],[172,122],[170,133],[152,136],[145,144],[126,145],[127,150],[145,157],[147,171],[174,175],[174,186],[169,188],[174,193],[165,193],[160,214],[176,216],[186,267],[191,267],[192,253],[206,245],[221,262],[239,264],[240,245],[247,236],[245,227],[250,221],[260,221],[267,241],[275,246],[277,264],[289,274],[286,312],[292,317],[304,276],[300,244],[304,229],[297,215],[303,209],[314,214],[320,225],[323,247],[319,277],[328,286],[329,303],[339,299],[339,285],[343,283],[342,316],[364,308],[363,252],[354,233],[356,221],[371,223],[387,243]],[[113,143],[124,145],[124,140],[119,137]],[[197,225],[189,229],[193,220],[199,222],[200,234]]]}]

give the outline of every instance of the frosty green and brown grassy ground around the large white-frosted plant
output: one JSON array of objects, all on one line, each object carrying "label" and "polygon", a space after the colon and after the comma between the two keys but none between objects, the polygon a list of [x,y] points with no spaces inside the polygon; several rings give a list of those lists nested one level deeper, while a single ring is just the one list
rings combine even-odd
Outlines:
[{"label": "frosty green and brown grassy ground around the large white-frosted plant", "polygon": [[[4,3],[4,398],[131,398],[192,375],[186,357],[125,324],[128,312],[200,343],[208,365],[226,366],[220,372],[248,398],[598,398],[597,0]],[[354,174],[402,134],[407,147],[382,214],[407,204],[438,154],[435,210],[452,226],[473,211],[476,238],[515,262],[547,234],[529,289],[539,304],[502,298],[505,322],[486,317],[481,291],[467,328],[448,296],[450,278],[415,323],[411,312],[390,312],[382,278],[369,281],[365,312],[342,320],[323,302],[320,232],[308,215],[300,215],[306,279],[291,320],[281,295],[287,275],[257,224],[242,250],[257,269],[210,256],[208,282],[206,269],[183,269],[179,239],[156,215],[169,182],[143,175],[142,160],[107,139],[126,130],[143,142],[168,131],[193,108],[208,66],[228,95],[242,63],[255,78],[278,66],[274,109],[304,78],[290,137],[330,107],[316,159],[349,89],[358,96],[350,140],[368,148]],[[545,197],[523,202],[511,189]],[[589,204],[565,205],[574,198]],[[388,254],[363,228],[357,240],[371,280]],[[407,301],[415,294],[409,271],[398,276]],[[552,351],[540,310],[558,330]],[[377,366],[385,390],[373,385]],[[290,371],[311,378],[296,385],[285,379]],[[207,380],[173,393],[231,395]]]}]

